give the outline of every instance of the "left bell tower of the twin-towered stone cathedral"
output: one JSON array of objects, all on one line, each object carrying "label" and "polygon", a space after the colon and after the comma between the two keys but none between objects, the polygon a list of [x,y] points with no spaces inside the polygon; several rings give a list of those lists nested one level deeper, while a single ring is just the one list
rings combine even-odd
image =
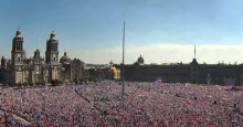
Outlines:
[{"label": "left bell tower of the twin-towered stone cathedral", "polygon": [[15,36],[12,40],[11,51],[11,65],[23,65],[24,51],[23,51],[23,38],[21,36],[20,28],[18,29]]}]

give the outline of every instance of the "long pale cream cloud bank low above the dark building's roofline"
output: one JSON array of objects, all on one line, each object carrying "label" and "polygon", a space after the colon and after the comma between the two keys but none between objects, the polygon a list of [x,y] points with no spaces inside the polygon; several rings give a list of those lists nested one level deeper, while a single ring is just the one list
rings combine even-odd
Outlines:
[{"label": "long pale cream cloud bank low above the dark building's roofline", "polygon": [[[159,43],[151,45],[127,45],[125,49],[125,63],[130,64],[142,55],[145,62],[168,63],[183,62],[189,63],[194,56],[194,45]],[[93,51],[71,51],[71,57],[78,56],[87,63],[115,63],[122,62],[123,49],[98,49]],[[219,61],[224,63],[243,62],[243,45],[197,45],[197,60],[199,63],[216,64]]]}]

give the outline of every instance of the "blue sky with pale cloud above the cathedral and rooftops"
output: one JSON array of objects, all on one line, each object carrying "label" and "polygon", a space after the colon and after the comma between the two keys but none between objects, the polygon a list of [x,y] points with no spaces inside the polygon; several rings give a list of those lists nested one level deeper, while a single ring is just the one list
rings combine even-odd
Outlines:
[{"label": "blue sky with pale cloud above the cathedral and rooftops", "polygon": [[11,56],[18,27],[27,56],[44,56],[52,31],[60,57],[86,63],[122,62],[138,56],[150,63],[243,62],[242,0],[0,0],[0,55]]}]

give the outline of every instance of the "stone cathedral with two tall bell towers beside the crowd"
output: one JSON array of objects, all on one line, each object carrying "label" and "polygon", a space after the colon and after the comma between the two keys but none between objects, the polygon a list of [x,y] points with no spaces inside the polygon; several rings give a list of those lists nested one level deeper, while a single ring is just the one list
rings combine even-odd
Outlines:
[{"label": "stone cathedral with two tall bell towers beside the crowd", "polygon": [[84,75],[84,62],[71,60],[65,52],[59,60],[59,40],[54,32],[46,41],[45,57],[36,50],[32,57],[27,57],[20,29],[12,40],[11,59],[1,59],[0,82],[15,84],[47,84],[53,80],[64,83],[78,82]]}]

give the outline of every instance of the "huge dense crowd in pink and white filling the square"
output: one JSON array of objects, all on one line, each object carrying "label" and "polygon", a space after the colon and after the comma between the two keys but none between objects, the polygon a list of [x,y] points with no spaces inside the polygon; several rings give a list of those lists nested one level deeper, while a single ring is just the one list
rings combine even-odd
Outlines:
[{"label": "huge dense crowd in pink and white filling the square", "polygon": [[223,86],[113,81],[34,88],[0,87],[0,126],[236,127],[243,91]]}]

